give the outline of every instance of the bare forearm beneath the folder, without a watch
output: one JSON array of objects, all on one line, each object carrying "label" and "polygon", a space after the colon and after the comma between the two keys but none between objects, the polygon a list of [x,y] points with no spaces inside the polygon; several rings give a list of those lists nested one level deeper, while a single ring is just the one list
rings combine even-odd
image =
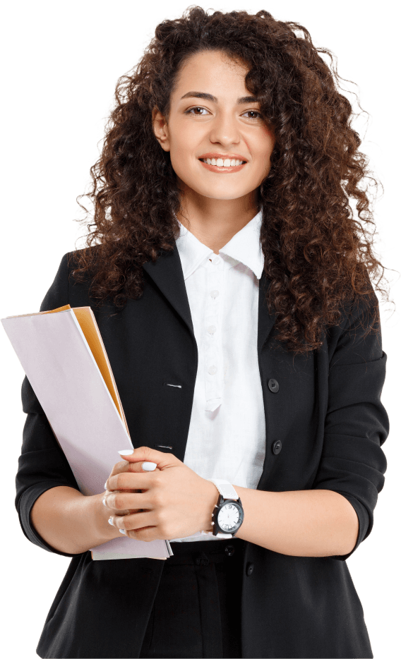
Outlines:
[{"label": "bare forearm beneath the folder, without a watch", "polygon": [[80,554],[113,538],[119,529],[108,524],[110,511],[103,493],[85,496],[61,485],[43,492],[32,506],[31,521],[37,533],[55,550]]}]

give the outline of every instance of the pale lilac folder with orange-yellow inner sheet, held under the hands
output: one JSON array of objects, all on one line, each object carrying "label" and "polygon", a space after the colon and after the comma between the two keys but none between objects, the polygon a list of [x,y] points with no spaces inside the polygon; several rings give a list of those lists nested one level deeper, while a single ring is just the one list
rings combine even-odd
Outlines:
[{"label": "pale lilac folder with orange-yellow inner sheet, held under the hands", "polygon": [[[133,448],[112,368],[90,307],[0,318],[83,495],[104,491],[121,447]],[[173,555],[169,540],[113,538],[92,560]]]}]

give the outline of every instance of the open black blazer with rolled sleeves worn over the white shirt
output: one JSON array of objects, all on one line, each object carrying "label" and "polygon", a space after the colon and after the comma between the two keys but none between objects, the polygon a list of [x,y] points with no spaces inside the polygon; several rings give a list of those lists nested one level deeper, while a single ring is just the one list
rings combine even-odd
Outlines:
[{"label": "open black blazer with rolled sleeves worn over the white shirt", "polygon": [[[174,252],[162,251],[156,262],[143,266],[143,296],[128,301],[119,313],[112,303],[97,308],[88,293],[89,281],[74,282],[68,255],[73,258],[73,252],[61,258],[40,310],[67,303],[92,307],[134,447],[165,451],[159,445],[171,445],[184,461],[198,349],[176,246]],[[385,483],[387,460],[381,446],[390,422],[381,401],[388,357],[381,324],[378,334],[364,337],[362,307],[349,306],[340,325],[328,330],[321,351],[294,356],[273,349],[279,344],[275,314],[270,315],[265,304],[268,284],[263,273],[258,361],[266,450],[257,489],[340,492],[357,512],[359,533],[354,549],[345,556],[287,556],[246,543],[242,656],[373,658],[364,610],[346,560],[371,533],[378,493]],[[166,382],[181,388],[164,386]],[[21,401],[27,417],[16,475],[20,526],[37,547],[71,557],[45,619],[37,655],[138,657],[164,561],[92,561],[90,552],[64,554],[40,538],[30,521],[37,497],[57,485],[79,488],[26,377]],[[174,552],[174,544],[172,548]]]}]

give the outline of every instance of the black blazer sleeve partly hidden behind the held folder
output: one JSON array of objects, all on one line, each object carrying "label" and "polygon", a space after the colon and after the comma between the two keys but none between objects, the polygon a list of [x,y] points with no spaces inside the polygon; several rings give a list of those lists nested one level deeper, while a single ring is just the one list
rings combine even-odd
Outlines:
[{"label": "black blazer sleeve partly hidden behind the held folder", "polygon": [[[67,255],[68,252],[61,258],[54,280],[40,305],[40,311],[49,311],[68,304]],[[48,545],[32,525],[30,511],[43,492],[59,485],[68,485],[78,491],[79,488],[26,375],[21,385],[21,405],[26,418],[18,458],[14,503],[21,530],[30,543],[44,551],[59,556],[76,556],[60,552]]]}]

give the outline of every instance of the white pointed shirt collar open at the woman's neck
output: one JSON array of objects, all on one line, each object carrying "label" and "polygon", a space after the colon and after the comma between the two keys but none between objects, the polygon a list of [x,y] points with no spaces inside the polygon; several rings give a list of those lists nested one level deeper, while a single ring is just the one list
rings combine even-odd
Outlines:
[{"label": "white pointed shirt collar open at the woman's neck", "polygon": [[[179,220],[178,220],[179,222]],[[219,250],[230,262],[229,267],[241,262],[249,267],[258,279],[261,279],[264,266],[264,256],[260,243],[262,211],[260,210],[241,231],[232,236],[231,240]],[[198,241],[191,231],[179,222],[180,234],[176,238],[176,246],[181,259],[184,279],[187,279],[200,265],[212,258],[213,249]]]}]

